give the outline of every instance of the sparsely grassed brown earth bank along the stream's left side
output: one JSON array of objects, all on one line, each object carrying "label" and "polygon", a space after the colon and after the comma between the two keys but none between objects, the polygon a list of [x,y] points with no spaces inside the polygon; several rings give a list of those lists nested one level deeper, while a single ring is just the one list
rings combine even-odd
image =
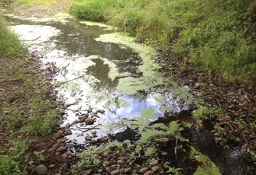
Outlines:
[{"label": "sparsely grassed brown earth bank along the stream's left side", "polygon": [[57,105],[47,100],[49,82],[37,62],[24,54],[18,37],[0,15],[0,174],[28,174],[44,151],[29,152],[34,139],[53,132],[60,122]]}]

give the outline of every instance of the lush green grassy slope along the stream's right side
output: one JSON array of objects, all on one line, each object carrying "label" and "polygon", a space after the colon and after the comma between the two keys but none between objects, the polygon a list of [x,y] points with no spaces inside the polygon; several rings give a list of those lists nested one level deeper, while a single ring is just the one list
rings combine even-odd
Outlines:
[{"label": "lush green grassy slope along the stream's right side", "polygon": [[160,42],[228,81],[256,78],[254,3],[251,0],[84,0],[70,13],[89,21],[109,21],[141,41]]}]

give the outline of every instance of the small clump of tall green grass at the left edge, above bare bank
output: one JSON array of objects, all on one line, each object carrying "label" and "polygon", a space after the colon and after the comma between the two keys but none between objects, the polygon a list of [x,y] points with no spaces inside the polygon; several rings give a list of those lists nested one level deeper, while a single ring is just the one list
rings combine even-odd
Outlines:
[{"label": "small clump of tall green grass at the left edge, above bare bank", "polygon": [[21,42],[18,40],[18,36],[11,32],[0,14],[0,55],[15,57],[20,55],[20,51]]}]

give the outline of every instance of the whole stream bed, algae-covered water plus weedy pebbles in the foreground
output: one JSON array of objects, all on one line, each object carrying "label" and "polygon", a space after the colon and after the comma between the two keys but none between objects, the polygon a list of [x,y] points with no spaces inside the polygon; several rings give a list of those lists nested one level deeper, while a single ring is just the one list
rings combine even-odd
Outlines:
[{"label": "whole stream bed, algae-covered water plus weedy pebbles in the foreground", "polygon": [[151,48],[66,14],[41,20],[6,14],[6,20],[56,73],[53,84],[66,106],[62,127],[70,131],[60,151],[69,162],[63,172],[250,174],[238,143],[223,148],[210,123],[196,127],[199,100],[164,80]]}]

